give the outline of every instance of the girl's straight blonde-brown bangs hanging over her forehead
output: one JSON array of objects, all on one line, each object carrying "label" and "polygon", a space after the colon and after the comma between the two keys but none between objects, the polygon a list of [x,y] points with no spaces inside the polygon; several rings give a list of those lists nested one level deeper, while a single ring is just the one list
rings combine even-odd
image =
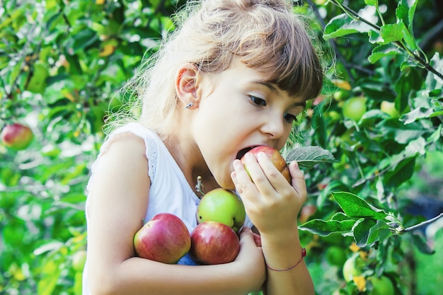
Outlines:
[{"label": "girl's straight blonde-brown bangs hanging over her forehead", "polygon": [[268,71],[275,83],[291,96],[316,98],[323,87],[323,67],[301,21],[275,18],[266,30],[243,38],[234,54],[246,66]]}]

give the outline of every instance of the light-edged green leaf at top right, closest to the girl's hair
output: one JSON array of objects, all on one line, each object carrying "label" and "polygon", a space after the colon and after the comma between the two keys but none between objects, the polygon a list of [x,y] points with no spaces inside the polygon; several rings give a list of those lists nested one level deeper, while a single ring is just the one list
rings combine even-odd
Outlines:
[{"label": "light-edged green leaf at top right, closest to the girl's hair", "polygon": [[372,28],[361,21],[355,21],[346,13],[335,16],[326,24],[323,38],[329,40],[330,38],[342,37],[354,33],[368,33]]}]

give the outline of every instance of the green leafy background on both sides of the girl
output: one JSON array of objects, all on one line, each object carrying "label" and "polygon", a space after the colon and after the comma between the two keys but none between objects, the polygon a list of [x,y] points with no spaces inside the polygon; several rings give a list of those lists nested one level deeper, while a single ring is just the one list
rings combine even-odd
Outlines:
[{"label": "green leafy background on both sides of the girl", "polygon": [[[85,187],[103,125],[184,3],[0,1],[0,124],[21,122],[35,134],[24,151],[0,144],[0,294],[81,294]],[[294,137],[336,159],[306,169],[299,224],[316,292],[371,294],[367,278],[384,274],[396,294],[438,294],[442,219],[426,221],[443,212],[442,4],[297,4],[317,19],[319,50],[336,54]],[[358,120],[343,115],[354,97],[365,99]],[[397,113],[381,111],[384,101]],[[367,216],[353,215],[349,199],[370,206]],[[346,282],[354,253],[364,258],[363,281]]]}]

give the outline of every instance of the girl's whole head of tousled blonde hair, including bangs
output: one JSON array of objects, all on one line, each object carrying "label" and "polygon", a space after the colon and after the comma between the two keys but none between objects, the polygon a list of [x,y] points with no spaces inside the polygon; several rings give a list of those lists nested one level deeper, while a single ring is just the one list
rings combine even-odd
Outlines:
[{"label": "girl's whole head of tousled blonde hair, including bangs", "polygon": [[290,1],[188,1],[175,20],[178,28],[126,88],[142,102],[139,122],[162,139],[173,132],[177,107],[183,107],[178,105],[174,78],[185,63],[220,72],[241,57],[251,68],[266,66],[273,73],[269,82],[291,95],[309,100],[321,91],[321,62]]}]

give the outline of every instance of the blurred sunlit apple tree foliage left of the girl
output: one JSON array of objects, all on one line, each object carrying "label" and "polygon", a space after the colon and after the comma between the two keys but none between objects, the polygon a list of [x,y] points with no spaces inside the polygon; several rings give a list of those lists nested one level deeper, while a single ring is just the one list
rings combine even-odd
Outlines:
[{"label": "blurred sunlit apple tree foliage left of the girl", "polygon": [[85,188],[103,126],[181,4],[0,1],[0,129],[20,124],[33,139],[0,141],[0,294],[81,294]]}]

